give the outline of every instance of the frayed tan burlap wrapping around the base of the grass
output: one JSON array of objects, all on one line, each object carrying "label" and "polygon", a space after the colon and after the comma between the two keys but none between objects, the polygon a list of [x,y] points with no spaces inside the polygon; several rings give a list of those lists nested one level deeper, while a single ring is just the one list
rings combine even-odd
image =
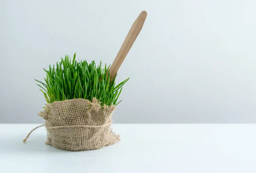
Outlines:
[{"label": "frayed tan burlap wrapping around the base of the grass", "polygon": [[47,104],[38,113],[45,119],[47,144],[62,150],[93,150],[118,142],[112,132],[114,105],[101,106],[97,99],[71,99]]}]

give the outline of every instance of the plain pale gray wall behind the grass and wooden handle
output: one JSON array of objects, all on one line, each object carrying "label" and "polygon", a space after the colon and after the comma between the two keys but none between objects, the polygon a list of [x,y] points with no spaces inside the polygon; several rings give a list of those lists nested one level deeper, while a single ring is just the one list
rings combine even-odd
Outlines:
[{"label": "plain pale gray wall behind the grass and wooden handle", "polygon": [[256,122],[255,9],[255,0],[1,0],[0,123],[43,122],[33,80],[42,68],[75,52],[111,64],[142,10],[115,123]]}]

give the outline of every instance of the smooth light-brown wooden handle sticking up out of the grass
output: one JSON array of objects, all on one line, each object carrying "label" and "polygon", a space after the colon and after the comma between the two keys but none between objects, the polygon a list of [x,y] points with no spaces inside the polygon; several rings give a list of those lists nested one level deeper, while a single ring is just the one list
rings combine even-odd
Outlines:
[{"label": "smooth light-brown wooden handle sticking up out of the grass", "polygon": [[140,13],[140,15],[137,17],[137,19],[135,20],[135,22],[133,23],[133,25],[131,26],[131,29],[126,36],[124,43],[122,44],[118,54],[116,55],[116,58],[115,58],[113,64],[111,65],[111,67],[109,69],[111,82],[116,77],[119,67],[121,66],[126,55],[130,51],[131,46],[133,45],[134,41],[138,37],[138,35],[143,27],[146,17],[147,17],[147,12],[142,11]]}]

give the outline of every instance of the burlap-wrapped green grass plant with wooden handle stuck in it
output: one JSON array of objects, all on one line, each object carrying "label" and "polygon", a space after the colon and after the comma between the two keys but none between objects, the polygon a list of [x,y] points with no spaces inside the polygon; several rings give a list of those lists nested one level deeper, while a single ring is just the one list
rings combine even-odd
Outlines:
[{"label": "burlap-wrapped green grass plant with wooden handle stuck in it", "polygon": [[120,140],[119,134],[111,129],[111,116],[121,102],[118,98],[129,78],[116,85],[116,74],[140,33],[146,15],[142,11],[137,17],[111,66],[77,61],[74,54],[72,59],[67,55],[55,65],[49,65],[49,70],[44,69],[44,82],[36,81],[47,101],[44,111],[38,113],[45,120],[46,144],[79,151],[98,149]]}]

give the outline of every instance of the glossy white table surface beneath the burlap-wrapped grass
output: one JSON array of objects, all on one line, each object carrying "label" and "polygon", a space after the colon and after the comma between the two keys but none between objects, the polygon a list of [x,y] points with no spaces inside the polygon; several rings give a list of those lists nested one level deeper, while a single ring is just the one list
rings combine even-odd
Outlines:
[{"label": "glossy white table surface beneath the burlap-wrapped grass", "polygon": [[1,173],[256,173],[256,124],[113,124],[98,150],[45,145],[45,127],[0,124]]}]

